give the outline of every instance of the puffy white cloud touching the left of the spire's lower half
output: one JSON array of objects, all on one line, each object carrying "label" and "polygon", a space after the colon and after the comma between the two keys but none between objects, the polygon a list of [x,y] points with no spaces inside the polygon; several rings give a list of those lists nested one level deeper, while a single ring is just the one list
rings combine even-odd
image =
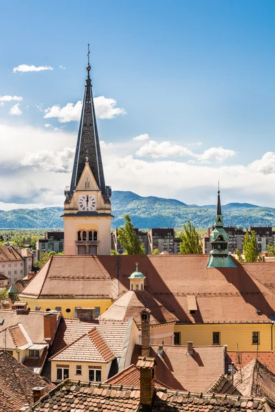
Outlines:
[{"label": "puffy white cloud touching the left of the spire's lower half", "polygon": [[32,166],[35,170],[42,168],[46,172],[67,173],[72,171],[74,149],[64,148],[59,152],[40,150],[28,152],[21,160],[21,165]]}]

